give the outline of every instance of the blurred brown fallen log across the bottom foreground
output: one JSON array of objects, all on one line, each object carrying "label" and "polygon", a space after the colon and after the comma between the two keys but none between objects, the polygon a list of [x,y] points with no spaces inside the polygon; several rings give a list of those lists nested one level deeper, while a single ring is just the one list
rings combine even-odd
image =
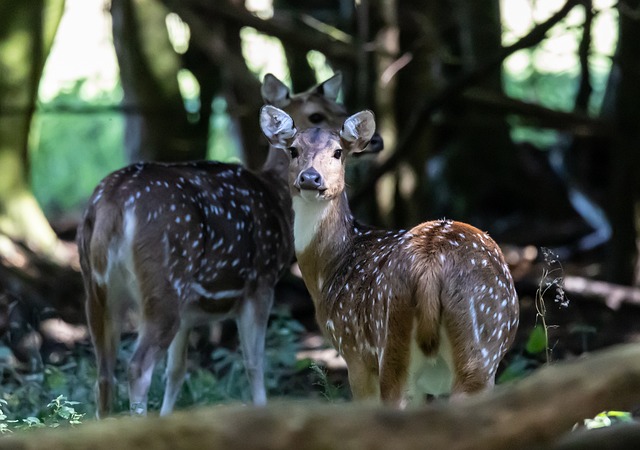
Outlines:
[{"label": "blurred brown fallen log across the bottom foreground", "polygon": [[551,448],[582,419],[638,404],[640,345],[624,345],[545,367],[489,393],[419,409],[302,401],[219,406],[22,433],[0,438],[0,449]]}]

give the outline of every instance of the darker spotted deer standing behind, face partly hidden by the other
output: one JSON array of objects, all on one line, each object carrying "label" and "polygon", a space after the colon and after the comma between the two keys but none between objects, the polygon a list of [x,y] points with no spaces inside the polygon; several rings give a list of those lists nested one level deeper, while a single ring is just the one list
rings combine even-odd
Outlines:
[{"label": "darker spotted deer standing behind, face partly hidden by the other", "polygon": [[[266,103],[302,126],[335,127],[336,74],[291,95],[273,75]],[[138,163],[104,178],[78,229],[86,313],[95,348],[97,416],[112,409],[121,322],[139,309],[129,367],[132,414],[146,414],[155,362],[168,349],[160,414],[173,410],[185,370],[189,331],[235,317],[253,402],[266,403],[264,341],[274,285],[293,258],[288,158],[269,149],[260,172],[219,162]]]}]

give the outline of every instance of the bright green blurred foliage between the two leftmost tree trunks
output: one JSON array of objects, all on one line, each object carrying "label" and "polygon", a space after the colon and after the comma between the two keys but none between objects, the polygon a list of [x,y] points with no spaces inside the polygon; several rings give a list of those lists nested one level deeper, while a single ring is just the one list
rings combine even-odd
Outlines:
[{"label": "bright green blurred foliage between the two leftmost tree trunks", "polygon": [[31,184],[47,214],[78,208],[100,179],[125,163],[119,89],[83,99],[78,80],[39,106],[31,148]]}]

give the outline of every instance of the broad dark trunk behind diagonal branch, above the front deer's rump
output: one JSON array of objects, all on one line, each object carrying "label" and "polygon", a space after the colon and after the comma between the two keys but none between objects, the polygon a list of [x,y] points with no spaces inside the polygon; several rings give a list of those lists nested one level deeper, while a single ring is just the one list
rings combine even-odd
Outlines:
[{"label": "broad dark trunk behind diagonal branch, above the front deer's rump", "polygon": [[[498,0],[452,0],[450,19],[456,25],[449,48],[458,51],[459,70],[455,76],[480,67],[502,51],[502,26]],[[502,92],[502,72],[499,67],[477,83],[477,88],[490,93]],[[515,179],[515,152],[509,127],[502,116],[487,115],[481,109],[461,101],[448,111],[452,139],[446,144],[445,175],[452,189],[449,211],[480,227],[481,217],[511,212],[521,201],[516,193],[521,183]],[[488,181],[491,180],[491,181]],[[440,214],[438,214],[440,215]]]}]

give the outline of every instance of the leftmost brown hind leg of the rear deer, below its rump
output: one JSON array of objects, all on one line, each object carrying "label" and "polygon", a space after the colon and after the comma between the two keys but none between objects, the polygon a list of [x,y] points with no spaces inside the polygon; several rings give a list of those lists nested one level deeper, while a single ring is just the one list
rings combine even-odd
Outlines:
[{"label": "leftmost brown hind leg of the rear deer, below its rump", "polygon": [[93,347],[96,353],[98,379],[96,381],[96,416],[106,417],[113,408],[115,365],[120,343],[120,328],[116,325],[107,301],[104,286],[88,281],[86,313]]}]

